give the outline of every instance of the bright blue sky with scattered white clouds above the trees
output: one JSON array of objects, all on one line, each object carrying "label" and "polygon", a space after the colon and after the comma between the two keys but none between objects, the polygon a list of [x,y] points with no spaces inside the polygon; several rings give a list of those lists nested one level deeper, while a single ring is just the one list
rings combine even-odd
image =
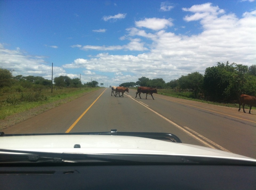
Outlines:
[{"label": "bright blue sky with scattered white clouds above the trees", "polygon": [[0,1],[0,67],[107,85],[256,64],[256,1]]}]

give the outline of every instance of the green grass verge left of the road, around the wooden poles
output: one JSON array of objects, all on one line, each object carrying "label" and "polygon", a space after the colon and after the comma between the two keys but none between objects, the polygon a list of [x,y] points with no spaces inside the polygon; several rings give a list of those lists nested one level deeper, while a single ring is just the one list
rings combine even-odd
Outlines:
[{"label": "green grass verge left of the road, around the wooden poles", "polygon": [[[63,88],[63,89],[57,89],[53,90],[53,93],[51,93],[51,90],[43,89],[41,91],[41,94],[43,94],[43,97],[47,100],[39,100],[39,101],[21,101],[15,103],[6,103],[5,100],[8,96],[10,96],[10,100],[19,99],[21,97],[21,93],[8,93],[1,94],[0,96],[0,119],[5,119],[7,116],[14,115],[16,113],[20,113],[22,111],[29,110],[34,107],[38,107],[44,104],[57,102],[59,100],[64,100],[66,98],[70,98],[70,100],[74,100],[75,98],[78,98],[82,96],[85,93],[92,92],[95,90],[98,90],[101,87],[96,88]],[[25,95],[27,94],[35,94],[35,92],[24,92]],[[62,102],[64,103],[64,102]],[[60,105],[61,103],[56,103],[57,105]],[[57,106],[56,105],[56,106]]]}]

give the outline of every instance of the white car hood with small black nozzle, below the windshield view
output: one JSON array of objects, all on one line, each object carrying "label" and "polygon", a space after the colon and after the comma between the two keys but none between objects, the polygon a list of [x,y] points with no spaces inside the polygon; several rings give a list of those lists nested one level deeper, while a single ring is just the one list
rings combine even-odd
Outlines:
[{"label": "white car hood with small black nozzle, below the windshield view", "polygon": [[[74,148],[77,144],[81,148]],[[1,136],[0,149],[53,153],[199,156],[256,162],[253,158],[203,146],[119,135]]]}]

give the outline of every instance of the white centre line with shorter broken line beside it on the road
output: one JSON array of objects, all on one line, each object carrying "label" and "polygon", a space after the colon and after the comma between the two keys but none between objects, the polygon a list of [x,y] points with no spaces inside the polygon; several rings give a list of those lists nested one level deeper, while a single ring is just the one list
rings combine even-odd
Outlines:
[{"label": "white centre line with shorter broken line beside it on the road", "polygon": [[[130,96],[129,96],[129,97],[130,97]],[[165,116],[163,116],[163,115],[157,113],[156,111],[152,110],[152,109],[149,108],[148,106],[144,105],[144,103],[142,103],[142,102],[140,102],[140,101],[137,101],[137,100],[135,100],[135,99],[132,98],[132,97],[130,97],[130,98],[133,99],[134,101],[140,103],[142,106],[146,107],[147,109],[149,109],[149,110],[152,111],[153,113],[157,114],[157,115],[160,116],[162,119],[164,119],[164,120],[166,120],[167,122],[171,123],[172,125],[174,125],[174,126],[177,127],[178,129],[181,129],[183,132],[187,133],[189,136],[191,136],[191,137],[193,137],[194,139],[198,140],[199,142],[201,142],[201,143],[204,144],[205,146],[208,146],[208,147],[210,147],[210,148],[216,149],[214,146],[212,146],[212,145],[210,145],[209,143],[207,143],[206,141],[202,140],[202,139],[205,139],[205,140],[206,140],[206,139],[207,139],[206,137],[200,135],[199,133],[193,131],[192,129],[190,129],[190,128],[188,128],[188,127],[185,127],[185,128],[188,129],[189,131],[191,131],[191,132],[193,131],[196,135],[200,136],[200,137],[202,138],[202,139],[200,139],[199,137],[197,137],[197,136],[194,135],[193,133],[187,131],[187,130],[184,129],[183,127],[181,127],[181,126],[179,126],[178,124],[172,122],[170,119],[167,119]],[[216,144],[215,142],[213,142],[213,141],[211,141],[211,140],[209,140],[209,139],[207,139],[207,141],[210,142],[211,144],[217,146],[218,148],[220,148],[220,149],[226,151],[226,152],[230,152],[229,150],[223,148],[222,146]]]}]

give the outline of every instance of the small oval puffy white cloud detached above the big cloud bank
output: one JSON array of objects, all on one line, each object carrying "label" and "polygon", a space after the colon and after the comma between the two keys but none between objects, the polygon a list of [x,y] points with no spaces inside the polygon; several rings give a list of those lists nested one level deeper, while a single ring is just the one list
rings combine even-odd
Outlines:
[{"label": "small oval puffy white cloud detached above the big cloud bank", "polygon": [[144,20],[135,21],[136,27],[145,27],[152,30],[161,30],[168,26],[173,26],[172,19],[145,18]]}]

